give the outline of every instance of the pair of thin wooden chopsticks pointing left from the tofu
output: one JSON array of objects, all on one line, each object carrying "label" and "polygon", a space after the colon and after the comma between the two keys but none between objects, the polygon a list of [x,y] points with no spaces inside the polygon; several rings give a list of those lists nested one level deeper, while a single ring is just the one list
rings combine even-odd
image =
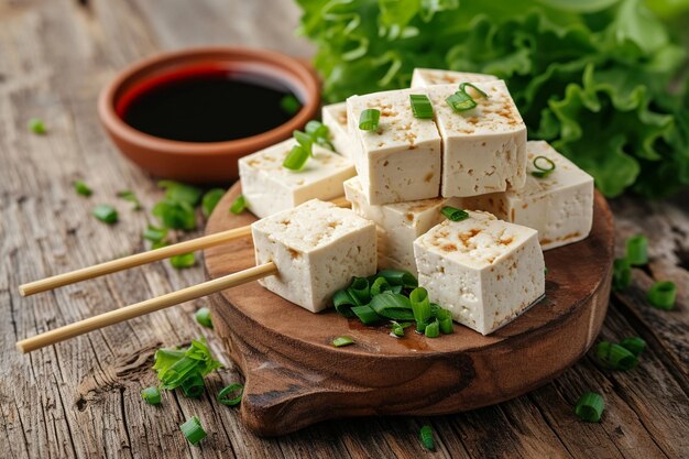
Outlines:
[{"label": "pair of thin wooden chopsticks pointing left from the tofu", "polygon": [[[331,203],[340,207],[347,207],[349,205],[349,203],[344,200],[344,198],[337,198],[331,200]],[[134,255],[124,256],[109,262],[96,264],[89,267],[84,267],[69,273],[58,274],[52,277],[43,278],[41,281],[30,282],[28,284],[20,285],[19,291],[22,296],[29,296],[77,282],[86,281],[89,278],[99,277],[105,274],[110,274],[154,261],[168,259],[174,255],[221,245],[236,239],[244,238],[249,234],[251,234],[250,226],[234,228],[231,230],[217,232],[215,234],[208,234],[201,238],[192,239],[189,241],[179,242],[173,245],[167,245],[161,249],[151,250],[149,252],[136,253]],[[41,335],[36,335],[31,338],[23,339],[17,342],[17,348],[24,353],[31,352],[46,346],[55,345],[69,338],[74,338],[76,336],[84,335],[102,327],[107,327],[109,325],[119,324],[124,320],[133,319],[134,317],[143,316],[169,306],[177,305],[179,303],[200,298],[201,296],[218,293],[223,289],[232,288],[274,274],[277,274],[277,266],[273,262],[267,262],[254,267],[250,267],[248,270],[240,271],[238,273],[228,274],[222,277],[214,278],[212,281],[207,281],[201,284],[182,288],[179,291],[172,292],[155,298],[146,299],[133,305],[124,306],[119,309],[110,310],[108,313],[90,317],[88,319],[84,319],[74,324],[66,325],[64,327],[56,328],[54,330],[46,331]]]}]

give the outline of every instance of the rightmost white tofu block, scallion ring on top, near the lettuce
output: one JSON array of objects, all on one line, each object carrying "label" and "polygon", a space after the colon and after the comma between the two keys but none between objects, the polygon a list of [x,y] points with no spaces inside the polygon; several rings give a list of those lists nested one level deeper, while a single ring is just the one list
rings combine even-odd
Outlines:
[{"label": "rightmost white tofu block, scallion ring on top, near the lettuce", "polygon": [[[523,188],[464,198],[463,207],[537,230],[543,250],[584,239],[593,223],[593,177],[544,141],[527,142],[526,156]],[[531,174],[537,156],[555,163],[555,171],[544,178]]]}]

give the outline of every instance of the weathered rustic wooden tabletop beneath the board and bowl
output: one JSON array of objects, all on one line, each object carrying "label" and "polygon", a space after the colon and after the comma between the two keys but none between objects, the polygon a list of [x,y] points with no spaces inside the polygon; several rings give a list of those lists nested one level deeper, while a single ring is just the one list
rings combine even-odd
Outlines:
[{"label": "weathered rustic wooden tabletop beneath the board and bowl", "polygon": [[[308,56],[310,46],[293,34],[297,20],[291,1],[0,1],[0,457],[689,457],[689,195],[671,203],[612,203],[620,252],[628,234],[650,238],[652,262],[635,270],[632,288],[612,298],[601,336],[644,338],[649,349],[638,368],[608,372],[590,353],[528,395],[470,413],[342,419],[282,438],[255,437],[237,409],[210,395],[241,375],[212,330],[193,319],[203,299],[30,356],[14,350],[19,339],[204,280],[200,265],[177,271],[155,263],[20,297],[20,283],[144,249],[141,233],[162,192],[105,135],[96,114],[99,88],[134,59],[189,45]],[[47,135],[28,132],[32,117],[45,120]],[[74,193],[78,178],[94,196]],[[124,188],[138,194],[145,211],[116,198]],[[97,203],[114,204],[121,221],[109,227],[92,218]],[[675,310],[645,303],[654,278],[679,286]],[[166,393],[161,406],[142,403],[139,392],[156,381],[154,350],[200,335],[227,365],[209,376],[207,394],[189,400]],[[600,424],[572,415],[588,390],[605,398]],[[178,429],[195,414],[209,433],[199,448]],[[417,440],[424,424],[436,431],[436,452]]]}]

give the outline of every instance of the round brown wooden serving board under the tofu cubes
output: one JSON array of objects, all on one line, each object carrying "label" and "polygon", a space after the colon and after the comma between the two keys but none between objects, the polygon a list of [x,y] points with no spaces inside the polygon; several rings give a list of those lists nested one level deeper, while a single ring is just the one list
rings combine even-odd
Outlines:
[{"label": "round brown wooden serving board under the tofu cubes", "polygon": [[[239,185],[226,194],[207,233],[255,221],[228,212],[239,194]],[[488,337],[456,324],[440,338],[407,331],[396,339],[335,310],[313,314],[258,282],[214,295],[214,326],[247,380],[242,417],[273,436],[336,417],[457,413],[532,391],[581,358],[599,334],[613,238],[612,214],[597,194],[590,237],[545,252],[546,298]],[[205,260],[211,278],[253,266],[251,238],[208,249]],[[341,335],[356,345],[333,348]]]}]

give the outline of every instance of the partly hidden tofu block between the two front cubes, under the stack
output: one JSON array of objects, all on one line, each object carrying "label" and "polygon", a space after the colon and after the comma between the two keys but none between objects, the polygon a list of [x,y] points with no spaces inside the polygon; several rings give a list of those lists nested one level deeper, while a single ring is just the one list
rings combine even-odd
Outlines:
[{"label": "partly hidden tofu block between the two front cubes, under the stack", "polygon": [[405,270],[416,275],[414,240],[445,217],[440,209],[456,206],[455,198],[433,198],[372,206],[367,203],[359,177],[344,182],[344,196],[352,210],[378,226],[379,269]]}]

